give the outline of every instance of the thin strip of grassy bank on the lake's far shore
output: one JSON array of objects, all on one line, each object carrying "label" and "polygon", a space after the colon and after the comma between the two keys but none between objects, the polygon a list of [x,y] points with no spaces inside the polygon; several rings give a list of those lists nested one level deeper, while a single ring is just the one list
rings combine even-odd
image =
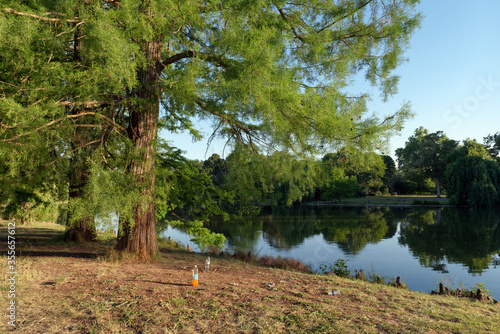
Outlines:
[{"label": "thin strip of grassy bank on the lake's far shore", "polygon": [[311,202],[310,205],[391,205],[391,206],[407,206],[407,205],[449,205],[448,198],[436,195],[384,195],[384,196],[365,196],[354,198],[343,198],[340,201],[321,201]]}]

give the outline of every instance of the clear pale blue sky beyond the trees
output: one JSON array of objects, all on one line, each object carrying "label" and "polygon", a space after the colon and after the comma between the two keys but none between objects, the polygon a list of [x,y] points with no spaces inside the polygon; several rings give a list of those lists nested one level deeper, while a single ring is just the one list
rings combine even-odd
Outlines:
[{"label": "clear pale blue sky beyond the trees", "polygon": [[[382,118],[409,101],[415,117],[407,121],[389,143],[393,157],[404,147],[415,129],[443,131],[449,138],[476,139],[500,132],[500,13],[499,0],[422,0],[417,10],[423,15],[400,65],[398,94],[388,103],[379,92],[368,89],[370,114]],[[209,123],[199,128],[208,138]],[[188,134],[160,133],[189,159],[206,160],[213,153],[227,156],[223,142],[193,142]]]}]

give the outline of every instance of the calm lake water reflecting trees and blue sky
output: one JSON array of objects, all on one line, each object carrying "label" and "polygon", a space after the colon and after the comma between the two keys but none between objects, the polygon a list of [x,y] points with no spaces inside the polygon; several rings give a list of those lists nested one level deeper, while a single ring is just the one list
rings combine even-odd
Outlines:
[{"label": "calm lake water reflecting trees and blue sky", "polygon": [[[314,270],[341,258],[351,271],[400,276],[411,290],[483,283],[500,298],[499,211],[303,206],[213,219],[207,227],[223,233],[232,251],[292,257]],[[183,231],[168,227],[163,233],[199,251]]]}]

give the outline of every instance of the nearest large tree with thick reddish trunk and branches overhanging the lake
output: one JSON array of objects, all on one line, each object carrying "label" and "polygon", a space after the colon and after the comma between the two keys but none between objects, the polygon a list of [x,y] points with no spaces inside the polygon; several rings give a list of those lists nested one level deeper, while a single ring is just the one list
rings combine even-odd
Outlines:
[{"label": "nearest large tree with thick reddish trunk and branches overhanging the lake", "polygon": [[[384,100],[396,92],[397,77],[391,73],[404,60],[419,24],[417,3],[4,1],[1,42],[12,67],[5,66],[8,78],[1,80],[2,110],[20,118],[4,125],[18,129],[16,135],[41,133],[56,120],[93,113],[108,135],[99,139],[102,154],[93,158],[92,168],[109,168],[108,158],[119,153],[127,162],[113,170],[124,175],[136,195],[133,205],[120,211],[118,248],[149,258],[157,252],[160,120],[171,131],[187,130],[195,137],[191,117],[211,120],[214,136],[256,154],[312,157],[339,145],[381,147],[409,116],[408,105],[379,119],[367,114],[368,95],[353,94],[348,87],[362,73]],[[14,27],[18,23],[29,29]],[[35,41],[36,35],[44,38]],[[23,38],[28,43],[20,43]],[[77,45],[92,58],[90,66],[63,59]],[[31,56],[32,63],[14,64],[16,55],[17,61]],[[61,59],[55,61],[55,55]],[[27,73],[15,73],[19,68]],[[69,115],[63,110],[68,106],[83,110]],[[104,107],[111,114],[100,112]],[[43,113],[34,116],[38,127],[21,126],[28,124],[21,116],[26,109]],[[106,149],[109,134],[124,135],[125,128],[122,144]],[[13,145],[16,135],[3,129],[3,143]],[[62,154],[68,151],[73,150],[66,147]]]}]

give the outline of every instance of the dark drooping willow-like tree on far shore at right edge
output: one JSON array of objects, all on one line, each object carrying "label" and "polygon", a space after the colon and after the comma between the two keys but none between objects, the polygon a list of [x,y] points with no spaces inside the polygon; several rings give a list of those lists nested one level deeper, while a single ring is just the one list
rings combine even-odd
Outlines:
[{"label": "dark drooping willow-like tree on far shore at right edge", "polygon": [[451,152],[446,167],[448,196],[455,205],[490,208],[500,201],[500,166],[475,140]]}]

